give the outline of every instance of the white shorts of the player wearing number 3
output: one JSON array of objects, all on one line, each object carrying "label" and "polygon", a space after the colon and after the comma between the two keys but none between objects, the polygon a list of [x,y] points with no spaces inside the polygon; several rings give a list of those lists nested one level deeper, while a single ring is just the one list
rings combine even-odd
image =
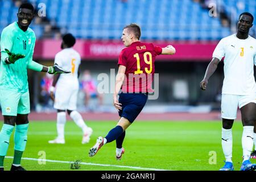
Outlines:
[{"label": "white shorts of the player wearing number 3", "polygon": [[256,94],[238,96],[232,94],[222,94],[221,97],[221,117],[224,119],[236,119],[237,107],[241,108],[253,102],[256,104]]}]

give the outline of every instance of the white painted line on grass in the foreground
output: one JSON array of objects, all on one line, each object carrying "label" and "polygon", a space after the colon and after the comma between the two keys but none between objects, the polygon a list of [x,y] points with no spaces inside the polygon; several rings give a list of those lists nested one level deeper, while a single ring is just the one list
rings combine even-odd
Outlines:
[{"label": "white painted line on grass in the foreground", "polygon": [[[6,156],[5,158],[13,159],[12,156]],[[40,162],[52,162],[52,163],[73,163],[62,160],[48,160],[48,159],[35,159],[35,158],[22,158],[23,160],[36,160]],[[134,166],[119,166],[119,165],[111,165],[111,164],[95,164],[95,163],[84,163],[80,164],[88,165],[88,166],[105,166],[105,167],[119,167],[119,168],[130,168],[130,169],[142,169],[142,170],[150,170],[150,171],[168,171],[166,169],[156,169],[156,168],[143,168],[143,167],[134,167]]]}]

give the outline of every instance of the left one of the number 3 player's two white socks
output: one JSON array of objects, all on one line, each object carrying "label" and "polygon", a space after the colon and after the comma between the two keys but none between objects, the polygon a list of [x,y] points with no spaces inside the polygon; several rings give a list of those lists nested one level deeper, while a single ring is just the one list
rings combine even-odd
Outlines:
[{"label": "left one of the number 3 player's two white socks", "polygon": [[221,145],[226,158],[226,162],[232,163],[232,146],[233,146],[232,129],[227,130],[222,128]]}]

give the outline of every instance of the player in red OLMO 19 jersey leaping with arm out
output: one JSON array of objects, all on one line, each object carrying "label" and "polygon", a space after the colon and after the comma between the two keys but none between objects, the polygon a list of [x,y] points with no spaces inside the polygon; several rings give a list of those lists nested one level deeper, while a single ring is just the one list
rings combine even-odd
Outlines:
[{"label": "player in red OLMO 19 jersey leaping with arm out", "polygon": [[[137,24],[132,23],[123,28],[121,39],[126,48],[122,49],[119,55],[113,95],[113,104],[121,118],[105,138],[98,137],[96,144],[90,148],[89,156],[94,156],[104,144],[116,140],[116,159],[121,159],[125,152],[122,148],[125,130],[141,113],[148,93],[153,92],[155,57],[160,54],[174,55],[176,52],[171,45],[161,48],[152,43],[142,43],[139,41],[140,37],[141,28]],[[119,100],[117,100],[118,93]]]}]

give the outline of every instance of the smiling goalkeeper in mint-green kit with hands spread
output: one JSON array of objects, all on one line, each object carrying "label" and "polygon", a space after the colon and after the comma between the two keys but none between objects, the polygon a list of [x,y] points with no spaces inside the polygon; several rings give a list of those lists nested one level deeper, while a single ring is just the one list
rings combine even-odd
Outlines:
[{"label": "smiling goalkeeper in mint-green kit with hands spread", "polygon": [[27,69],[50,74],[70,73],[58,65],[44,67],[32,61],[36,38],[28,26],[34,18],[34,7],[30,3],[23,3],[17,16],[18,22],[4,28],[1,34],[0,104],[4,124],[0,132],[0,171],[3,171],[3,160],[15,125],[11,171],[26,171],[20,166],[20,160],[26,148],[30,113]]}]

